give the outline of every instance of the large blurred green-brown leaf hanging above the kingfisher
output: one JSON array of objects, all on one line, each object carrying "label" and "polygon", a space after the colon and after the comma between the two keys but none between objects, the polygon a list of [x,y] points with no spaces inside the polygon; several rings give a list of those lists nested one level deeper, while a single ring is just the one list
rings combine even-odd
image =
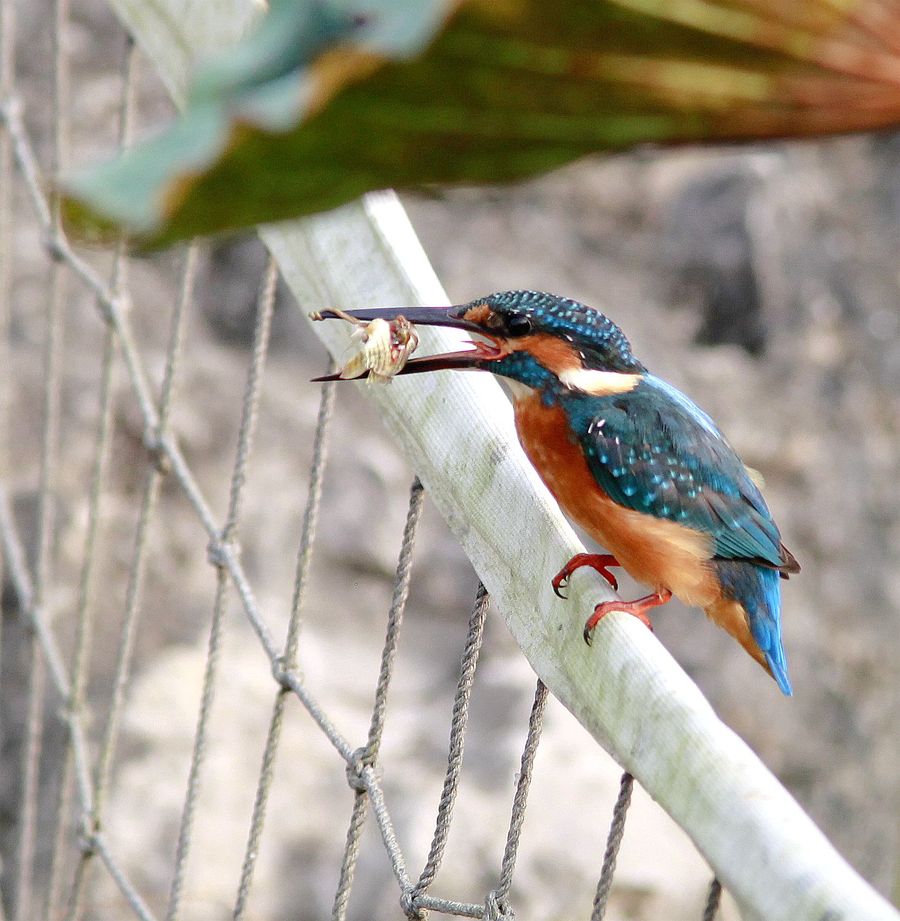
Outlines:
[{"label": "large blurred green-brown leaf hanging above the kingfisher", "polygon": [[162,245],[637,144],[898,123],[883,0],[272,0],[179,122],[64,182],[65,215]]}]

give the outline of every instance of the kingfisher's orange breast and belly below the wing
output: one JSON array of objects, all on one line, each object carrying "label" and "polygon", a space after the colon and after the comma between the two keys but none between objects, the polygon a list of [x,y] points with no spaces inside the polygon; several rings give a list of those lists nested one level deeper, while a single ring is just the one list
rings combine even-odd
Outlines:
[{"label": "kingfisher's orange breast and belly below the wing", "polygon": [[594,479],[560,406],[545,406],[532,393],[515,409],[519,440],[547,488],[631,576],[669,589],[686,604],[708,608],[721,599],[708,535],[613,502]]}]

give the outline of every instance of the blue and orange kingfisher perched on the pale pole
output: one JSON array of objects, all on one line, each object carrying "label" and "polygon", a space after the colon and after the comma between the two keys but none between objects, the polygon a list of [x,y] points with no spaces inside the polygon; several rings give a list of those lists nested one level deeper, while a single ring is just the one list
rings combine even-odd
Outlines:
[{"label": "blue and orange kingfisher perched on the pale pole", "polygon": [[[715,423],[634,356],[599,310],[541,291],[505,291],[451,307],[323,311],[322,318],[448,326],[478,336],[463,351],[414,358],[400,374],[472,368],[502,377],[525,454],[566,514],[608,553],[574,556],[614,589],[623,567],[652,589],[598,604],[647,626],[673,595],[702,608],[792,694],[781,638],[780,580],[800,571],[750,471]],[[336,379],[327,375],[319,380]]]}]

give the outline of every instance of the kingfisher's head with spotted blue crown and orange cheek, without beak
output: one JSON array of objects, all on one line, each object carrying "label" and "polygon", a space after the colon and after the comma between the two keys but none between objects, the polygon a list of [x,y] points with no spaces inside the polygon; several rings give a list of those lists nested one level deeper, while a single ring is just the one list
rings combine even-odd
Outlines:
[{"label": "kingfisher's head with spotted blue crown and orange cheek, without beak", "polygon": [[[506,342],[510,352],[529,352],[557,376],[563,365],[625,374],[645,370],[609,317],[571,298],[543,291],[503,291],[454,308],[454,313],[485,335]],[[490,370],[503,373],[499,367]]]}]

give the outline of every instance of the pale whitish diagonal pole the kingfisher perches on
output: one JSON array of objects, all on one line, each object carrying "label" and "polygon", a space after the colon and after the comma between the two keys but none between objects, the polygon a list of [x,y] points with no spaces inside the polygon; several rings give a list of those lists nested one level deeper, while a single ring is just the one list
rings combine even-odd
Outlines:
[{"label": "pale whitish diagonal pole the kingfisher perches on", "polygon": [[[262,8],[257,0],[109,3],[176,102],[195,57],[234,41]],[[261,235],[306,309],[447,303],[391,193]],[[335,355],[346,344],[342,326],[313,324]],[[422,354],[453,339],[424,333]],[[581,641],[584,612],[601,599],[576,586],[564,603],[550,590],[552,575],[582,548],[522,454],[493,380],[446,373],[349,386],[378,406],[534,670],[688,832],[745,918],[900,919],[646,628],[613,615],[593,647]]]}]

